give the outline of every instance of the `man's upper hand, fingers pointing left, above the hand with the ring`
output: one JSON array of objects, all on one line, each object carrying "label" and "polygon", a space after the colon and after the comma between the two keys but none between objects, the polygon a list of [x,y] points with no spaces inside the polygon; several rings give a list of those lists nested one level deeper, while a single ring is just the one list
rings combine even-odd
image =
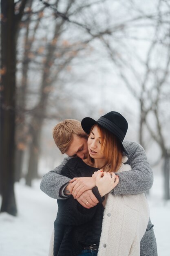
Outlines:
[{"label": "man's upper hand, fingers pointing left, above the hand with the ring", "polygon": [[73,186],[72,195],[77,199],[84,191],[94,188],[95,177],[78,177],[70,180],[70,183]]}]

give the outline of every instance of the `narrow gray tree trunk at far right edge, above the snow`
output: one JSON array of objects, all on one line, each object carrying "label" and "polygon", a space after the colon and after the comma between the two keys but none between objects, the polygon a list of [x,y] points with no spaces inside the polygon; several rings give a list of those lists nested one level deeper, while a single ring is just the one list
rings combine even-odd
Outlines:
[{"label": "narrow gray tree trunk at far right edge, above the snow", "polygon": [[164,157],[163,164],[163,177],[164,177],[164,199],[170,199],[170,155]]}]

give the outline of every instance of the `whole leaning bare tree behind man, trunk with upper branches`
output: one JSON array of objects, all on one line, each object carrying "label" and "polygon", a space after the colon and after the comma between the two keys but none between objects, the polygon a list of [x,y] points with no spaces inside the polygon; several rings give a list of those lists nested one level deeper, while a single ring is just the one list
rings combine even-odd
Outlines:
[{"label": "whole leaning bare tree behind man, trunk with upper branches", "polygon": [[[90,29],[88,29],[86,25],[84,25],[84,23],[72,22],[68,19],[68,17],[74,16],[75,14],[77,15],[77,13],[79,13],[79,11],[82,11],[83,8],[91,7],[91,5],[97,4],[99,2],[103,1],[94,1],[90,4],[84,4],[82,6],[77,5],[75,8],[75,1],[70,0],[65,4],[66,8],[64,13],[58,12],[56,9],[59,6],[60,1],[56,1],[56,3],[53,5],[47,4],[45,2],[45,6],[53,7],[52,10],[54,12],[53,15],[55,19],[53,21],[53,32],[51,31],[51,34],[53,33],[53,37],[51,38],[51,40],[48,41],[47,45],[42,47],[42,51],[39,51],[40,46],[38,46],[38,40],[36,42],[34,38],[34,45],[36,44],[38,48],[37,50],[35,50],[34,47],[33,56],[40,56],[41,54],[43,56],[43,65],[42,63],[40,63],[40,58],[39,60],[36,57],[33,58],[32,62],[34,63],[34,65],[38,64],[38,62],[39,65],[41,65],[40,72],[42,75],[42,80],[40,83],[39,100],[37,101],[36,105],[32,108],[32,110],[30,110],[31,121],[29,123],[29,134],[31,136],[31,143],[29,147],[28,174],[26,176],[27,185],[31,185],[31,180],[33,177],[38,177],[37,171],[38,159],[40,155],[41,130],[44,118],[48,118],[46,115],[46,108],[48,106],[49,94],[51,94],[51,89],[53,90],[54,88],[53,83],[55,82],[57,84],[57,79],[59,79],[60,72],[62,72],[69,65],[72,59],[77,56],[78,52],[84,50],[86,45],[91,40],[93,40],[93,38],[98,37],[99,34],[91,34],[91,36],[88,36],[88,38],[84,41],[79,40],[78,38],[79,41],[75,41],[73,43],[69,42],[68,40],[60,39],[60,37],[62,38],[63,33],[66,31],[66,22],[71,23],[73,25],[77,25],[80,28],[85,29],[85,31],[89,32]],[[72,8],[72,6],[75,9]],[[105,32],[108,33],[107,31]],[[31,63],[29,66],[31,67]],[[26,76],[24,76],[24,79],[25,77]],[[57,90],[57,86],[55,90]],[[24,99],[24,97],[22,97],[22,99]],[[21,150],[23,149],[23,144],[19,143],[18,145],[21,146],[21,152]]]}]

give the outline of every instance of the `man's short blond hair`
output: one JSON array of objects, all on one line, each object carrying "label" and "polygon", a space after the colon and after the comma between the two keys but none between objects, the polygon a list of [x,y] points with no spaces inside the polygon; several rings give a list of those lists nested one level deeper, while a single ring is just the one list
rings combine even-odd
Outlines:
[{"label": "man's short blond hair", "polygon": [[75,119],[65,119],[53,128],[53,138],[55,144],[64,154],[73,141],[73,135],[81,138],[88,138],[88,135],[82,129],[81,123]]}]

